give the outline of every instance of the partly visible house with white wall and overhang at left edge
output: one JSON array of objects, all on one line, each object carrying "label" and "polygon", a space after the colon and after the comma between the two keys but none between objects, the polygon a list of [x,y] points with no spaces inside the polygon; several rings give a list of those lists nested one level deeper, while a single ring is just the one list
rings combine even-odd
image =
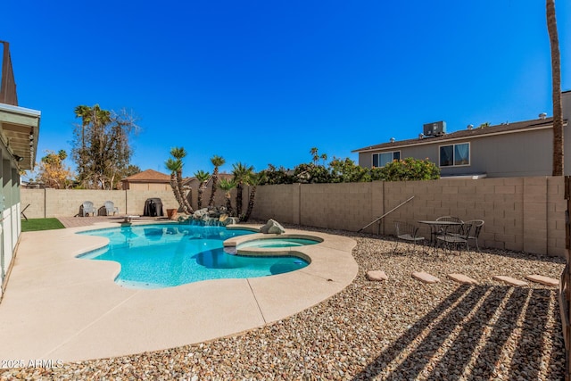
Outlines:
[{"label": "partly visible house with white wall and overhang at left edge", "polygon": [[[9,45],[0,41],[0,296],[21,234],[20,173],[33,170],[41,112],[18,105]],[[25,206],[24,206],[25,207]]]}]

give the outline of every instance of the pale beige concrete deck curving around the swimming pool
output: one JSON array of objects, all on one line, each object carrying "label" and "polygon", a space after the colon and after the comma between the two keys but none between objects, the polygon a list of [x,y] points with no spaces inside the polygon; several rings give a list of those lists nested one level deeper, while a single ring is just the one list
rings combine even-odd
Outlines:
[{"label": "pale beige concrete deck curving around the swimming pool", "polygon": [[[248,225],[259,228],[260,225]],[[221,279],[153,290],[118,286],[120,265],[77,259],[106,238],[89,227],[21,234],[0,302],[0,359],[70,362],[151,352],[234,335],[285,319],[343,290],[357,275],[351,238],[293,247],[308,267],[271,277]]]}]

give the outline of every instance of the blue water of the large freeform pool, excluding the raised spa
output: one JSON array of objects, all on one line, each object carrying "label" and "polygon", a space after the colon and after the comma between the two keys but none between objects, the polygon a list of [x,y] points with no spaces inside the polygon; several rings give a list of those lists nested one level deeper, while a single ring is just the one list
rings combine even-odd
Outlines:
[{"label": "blue water of the large freeform pool, excluding the raised spa", "polygon": [[79,258],[117,261],[115,282],[131,288],[180,286],[207,279],[266,277],[302,269],[309,263],[294,256],[245,257],[225,253],[223,242],[250,230],[154,224],[89,230],[109,244]]}]

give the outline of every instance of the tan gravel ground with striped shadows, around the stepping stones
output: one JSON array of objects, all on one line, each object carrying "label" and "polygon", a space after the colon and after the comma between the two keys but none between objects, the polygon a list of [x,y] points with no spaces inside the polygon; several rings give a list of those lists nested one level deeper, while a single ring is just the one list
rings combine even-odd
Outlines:
[{"label": "tan gravel ground with striped shadows, around the stepping stones", "polygon": [[[301,228],[301,227],[292,227]],[[307,228],[305,228],[307,229]],[[208,343],[54,368],[0,370],[0,379],[99,380],[560,380],[565,350],[558,288],[492,279],[559,278],[562,258],[486,250],[413,253],[410,244],[351,236],[358,276],[341,293],[288,319]],[[388,280],[372,282],[371,269]],[[440,278],[425,284],[411,277]],[[446,277],[462,273],[476,286]]]}]

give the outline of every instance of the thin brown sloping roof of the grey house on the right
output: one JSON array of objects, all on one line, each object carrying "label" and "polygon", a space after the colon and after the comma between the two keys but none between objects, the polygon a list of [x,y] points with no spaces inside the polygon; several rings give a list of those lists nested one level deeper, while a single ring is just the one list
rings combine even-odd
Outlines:
[{"label": "thin brown sloping roof of the grey house on the right", "polygon": [[[415,139],[407,139],[395,142],[381,143],[380,145],[369,145],[367,147],[353,150],[354,153],[377,151],[386,148],[401,147],[405,145],[423,145],[431,144],[434,142],[446,142],[449,140],[456,140],[461,138],[482,137],[489,135],[507,134],[512,132],[521,132],[523,130],[533,130],[537,128],[550,128],[553,124],[553,118],[536,119],[517,121],[515,123],[502,123],[496,126],[461,129],[459,131],[451,132],[434,137],[417,137]],[[567,123],[564,121],[564,125]]]}]

